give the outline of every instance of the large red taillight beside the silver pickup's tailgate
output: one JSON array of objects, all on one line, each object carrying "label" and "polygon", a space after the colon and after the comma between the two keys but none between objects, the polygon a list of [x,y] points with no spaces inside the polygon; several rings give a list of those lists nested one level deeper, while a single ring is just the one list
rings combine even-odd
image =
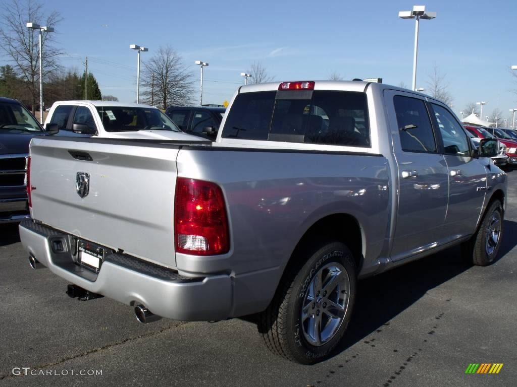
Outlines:
[{"label": "large red taillight beside the silver pickup's tailgate", "polygon": [[174,239],[180,253],[214,255],[230,250],[224,197],[217,184],[177,179]]}]

